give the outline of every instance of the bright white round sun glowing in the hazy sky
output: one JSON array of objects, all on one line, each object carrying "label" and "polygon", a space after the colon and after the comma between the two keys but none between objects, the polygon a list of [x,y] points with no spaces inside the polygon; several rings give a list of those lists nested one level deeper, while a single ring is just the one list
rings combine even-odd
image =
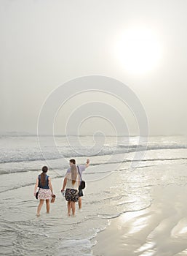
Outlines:
[{"label": "bright white round sun glowing in the hazy sky", "polygon": [[128,72],[156,68],[162,56],[159,39],[148,29],[128,29],[116,45],[116,56]]}]

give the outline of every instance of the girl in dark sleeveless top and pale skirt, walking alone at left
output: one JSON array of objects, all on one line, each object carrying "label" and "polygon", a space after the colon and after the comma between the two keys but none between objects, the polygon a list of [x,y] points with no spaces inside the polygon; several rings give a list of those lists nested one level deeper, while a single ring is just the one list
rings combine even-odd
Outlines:
[{"label": "girl in dark sleeveless top and pale skirt, walking alone at left", "polygon": [[39,216],[41,207],[46,201],[47,214],[49,214],[50,199],[53,196],[52,184],[49,176],[47,176],[47,166],[42,167],[42,173],[36,179],[36,185],[34,187],[34,196],[36,196],[37,187],[39,187],[39,206],[37,208],[36,216]]}]

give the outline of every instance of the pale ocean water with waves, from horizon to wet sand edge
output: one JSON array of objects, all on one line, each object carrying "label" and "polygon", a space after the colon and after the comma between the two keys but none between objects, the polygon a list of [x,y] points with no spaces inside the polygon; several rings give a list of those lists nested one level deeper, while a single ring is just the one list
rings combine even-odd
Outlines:
[{"label": "pale ocean water with waves, from horizon to wet sand edge", "polygon": [[[150,137],[146,144],[123,136],[56,136],[52,144],[53,139],[0,136],[0,255],[94,255],[97,236],[111,219],[151,207],[157,187],[187,184],[185,136]],[[67,216],[60,193],[71,158],[78,165],[90,159],[76,217]],[[36,217],[33,189],[44,165],[57,197],[50,214],[43,206]]]}]

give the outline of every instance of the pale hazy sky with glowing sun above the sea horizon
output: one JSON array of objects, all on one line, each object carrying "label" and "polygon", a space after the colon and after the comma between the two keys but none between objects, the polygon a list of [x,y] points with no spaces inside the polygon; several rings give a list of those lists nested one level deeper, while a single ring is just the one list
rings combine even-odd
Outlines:
[{"label": "pale hazy sky with glowing sun above the sea horizon", "polygon": [[[53,90],[81,76],[103,75],[134,91],[151,135],[187,134],[186,0],[0,0],[0,17],[0,132],[36,133]],[[113,105],[136,132],[130,110],[95,91],[65,102],[57,133],[65,132],[73,109],[92,100]],[[110,122],[95,118],[80,121],[82,133],[95,126],[112,132]]]}]

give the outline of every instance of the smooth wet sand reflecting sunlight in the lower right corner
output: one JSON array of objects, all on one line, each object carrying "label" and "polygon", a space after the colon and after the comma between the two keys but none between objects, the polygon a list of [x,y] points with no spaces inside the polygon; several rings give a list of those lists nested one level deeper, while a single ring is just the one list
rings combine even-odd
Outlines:
[{"label": "smooth wet sand reflecting sunlight in the lower right corner", "polygon": [[187,186],[157,187],[152,195],[149,208],[110,221],[95,238],[93,255],[187,255]]}]

